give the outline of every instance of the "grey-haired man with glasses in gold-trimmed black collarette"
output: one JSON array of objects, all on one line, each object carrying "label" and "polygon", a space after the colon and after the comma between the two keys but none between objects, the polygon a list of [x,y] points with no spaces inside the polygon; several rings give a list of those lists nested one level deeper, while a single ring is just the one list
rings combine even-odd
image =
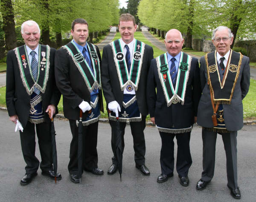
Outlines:
[{"label": "grey-haired man with glasses in gold-trimmed black collarette", "polygon": [[231,195],[241,198],[237,185],[237,131],[243,126],[242,99],[250,86],[249,58],[230,49],[233,34],[219,26],[212,33],[216,51],[200,60],[202,97],[198,105],[198,125],[203,127],[203,172],[197,190],[212,180],[215,144],[221,134],[227,157],[227,186]]}]

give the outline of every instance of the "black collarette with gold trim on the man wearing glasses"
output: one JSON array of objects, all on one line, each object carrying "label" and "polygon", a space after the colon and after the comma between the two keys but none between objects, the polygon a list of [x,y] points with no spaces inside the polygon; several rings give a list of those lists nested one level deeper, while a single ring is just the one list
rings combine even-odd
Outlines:
[{"label": "black collarette with gold trim on the man wearing glasses", "polygon": [[215,104],[230,104],[239,77],[243,55],[230,49],[230,56],[221,81],[215,52],[205,55],[208,84]]}]

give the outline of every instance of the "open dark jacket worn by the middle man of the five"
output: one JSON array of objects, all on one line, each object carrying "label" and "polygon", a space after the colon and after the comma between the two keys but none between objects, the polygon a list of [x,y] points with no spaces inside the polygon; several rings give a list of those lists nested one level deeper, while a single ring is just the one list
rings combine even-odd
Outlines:
[{"label": "open dark jacket worn by the middle man of the five", "polygon": [[[148,114],[146,102],[146,83],[150,61],[153,58],[153,48],[145,45],[143,64],[141,66],[140,81],[135,92],[140,113],[143,116]],[[108,44],[103,48],[102,53],[102,88],[107,106],[109,102],[116,100],[122,107],[124,92],[120,88],[116,65],[114,62],[113,51]]]}]

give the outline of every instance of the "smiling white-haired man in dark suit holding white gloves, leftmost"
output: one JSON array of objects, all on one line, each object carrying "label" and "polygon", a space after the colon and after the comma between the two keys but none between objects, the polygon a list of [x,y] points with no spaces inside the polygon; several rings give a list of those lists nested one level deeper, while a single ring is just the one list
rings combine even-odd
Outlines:
[{"label": "smiling white-haired man in dark suit holding white gloves, leftmost", "polygon": [[[40,28],[35,21],[22,24],[21,34],[25,45],[7,54],[6,105],[10,120],[23,126],[20,142],[26,174],[20,181],[28,185],[37,176],[39,160],[35,156],[35,128],[42,161],[42,174],[54,179],[52,171],[51,120],[58,114],[61,94],[55,85],[55,49],[38,43]],[[39,69],[38,69],[39,68]],[[61,179],[61,174],[57,174]]]}]

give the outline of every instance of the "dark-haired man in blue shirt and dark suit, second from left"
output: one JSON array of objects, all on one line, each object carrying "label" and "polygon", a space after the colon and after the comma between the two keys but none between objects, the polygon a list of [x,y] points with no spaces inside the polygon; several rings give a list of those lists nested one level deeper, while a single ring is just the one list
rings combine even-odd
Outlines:
[{"label": "dark-haired man in blue shirt and dark suit, second from left", "polygon": [[73,21],[73,40],[62,46],[55,55],[56,84],[63,95],[64,116],[69,119],[72,133],[70,143],[70,179],[79,183],[78,176],[78,127],[79,112],[83,120],[83,168],[96,175],[103,175],[98,168],[97,137],[100,110],[103,111],[100,80],[101,57],[99,48],[86,42],[88,23],[82,18]]}]

